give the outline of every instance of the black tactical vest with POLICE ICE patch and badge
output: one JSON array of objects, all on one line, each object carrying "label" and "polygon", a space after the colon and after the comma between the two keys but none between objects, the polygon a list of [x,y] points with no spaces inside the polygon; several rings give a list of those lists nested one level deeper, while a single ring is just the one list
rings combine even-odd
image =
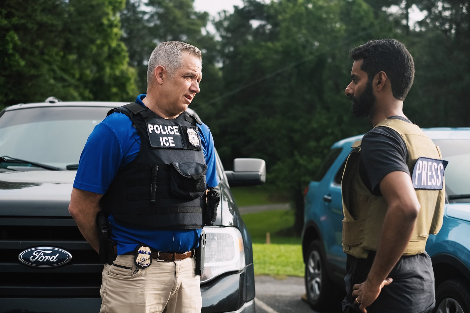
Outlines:
[{"label": "black tactical vest with POLICE ICE patch and badge", "polygon": [[120,223],[156,229],[202,228],[206,206],[204,152],[197,124],[186,112],[172,120],[130,103],[110,110],[133,121],[141,137],[137,157],[120,168],[101,199]]}]

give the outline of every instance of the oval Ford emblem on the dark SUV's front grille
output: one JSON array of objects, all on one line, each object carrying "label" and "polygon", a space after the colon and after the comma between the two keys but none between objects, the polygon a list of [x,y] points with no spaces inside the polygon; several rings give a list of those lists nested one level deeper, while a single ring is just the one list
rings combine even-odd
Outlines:
[{"label": "oval Ford emblem on the dark SUV's front grille", "polygon": [[18,259],[27,266],[52,268],[69,263],[72,255],[60,248],[34,247],[21,252]]}]

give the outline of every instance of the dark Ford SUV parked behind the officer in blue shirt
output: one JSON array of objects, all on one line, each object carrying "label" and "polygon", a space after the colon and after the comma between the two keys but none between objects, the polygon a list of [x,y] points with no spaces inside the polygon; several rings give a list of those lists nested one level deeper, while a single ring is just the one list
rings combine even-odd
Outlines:
[{"label": "dark Ford SUV parked behind the officer in blue shirt", "polygon": [[[0,112],[0,313],[99,312],[103,265],[68,206],[88,135],[126,103],[50,98]],[[217,156],[217,172],[217,220],[204,227],[202,312],[253,313],[251,238],[229,184],[264,182],[265,162],[235,159],[224,171]]]}]

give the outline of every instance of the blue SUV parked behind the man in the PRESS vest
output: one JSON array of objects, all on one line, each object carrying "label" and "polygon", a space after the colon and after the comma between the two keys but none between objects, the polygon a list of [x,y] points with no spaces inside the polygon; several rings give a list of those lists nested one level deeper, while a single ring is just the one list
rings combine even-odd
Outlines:
[{"label": "blue SUV parked behind the man in the PRESS vest", "polygon": [[[446,207],[438,235],[430,235],[431,256],[439,313],[470,312],[470,128],[423,129],[449,161],[446,167]],[[354,141],[331,146],[305,189],[302,251],[308,303],[323,310],[345,295],[346,255],[343,253],[341,177]]]}]

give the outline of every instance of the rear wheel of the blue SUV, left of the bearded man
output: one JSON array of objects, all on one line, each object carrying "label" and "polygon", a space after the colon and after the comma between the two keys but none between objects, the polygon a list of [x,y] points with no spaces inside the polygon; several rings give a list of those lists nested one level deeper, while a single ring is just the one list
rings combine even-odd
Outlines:
[{"label": "rear wheel of the blue SUV, left of the bearded man", "polygon": [[331,282],[319,240],[310,243],[305,262],[305,291],[308,304],[313,310],[331,308],[341,295]]}]

